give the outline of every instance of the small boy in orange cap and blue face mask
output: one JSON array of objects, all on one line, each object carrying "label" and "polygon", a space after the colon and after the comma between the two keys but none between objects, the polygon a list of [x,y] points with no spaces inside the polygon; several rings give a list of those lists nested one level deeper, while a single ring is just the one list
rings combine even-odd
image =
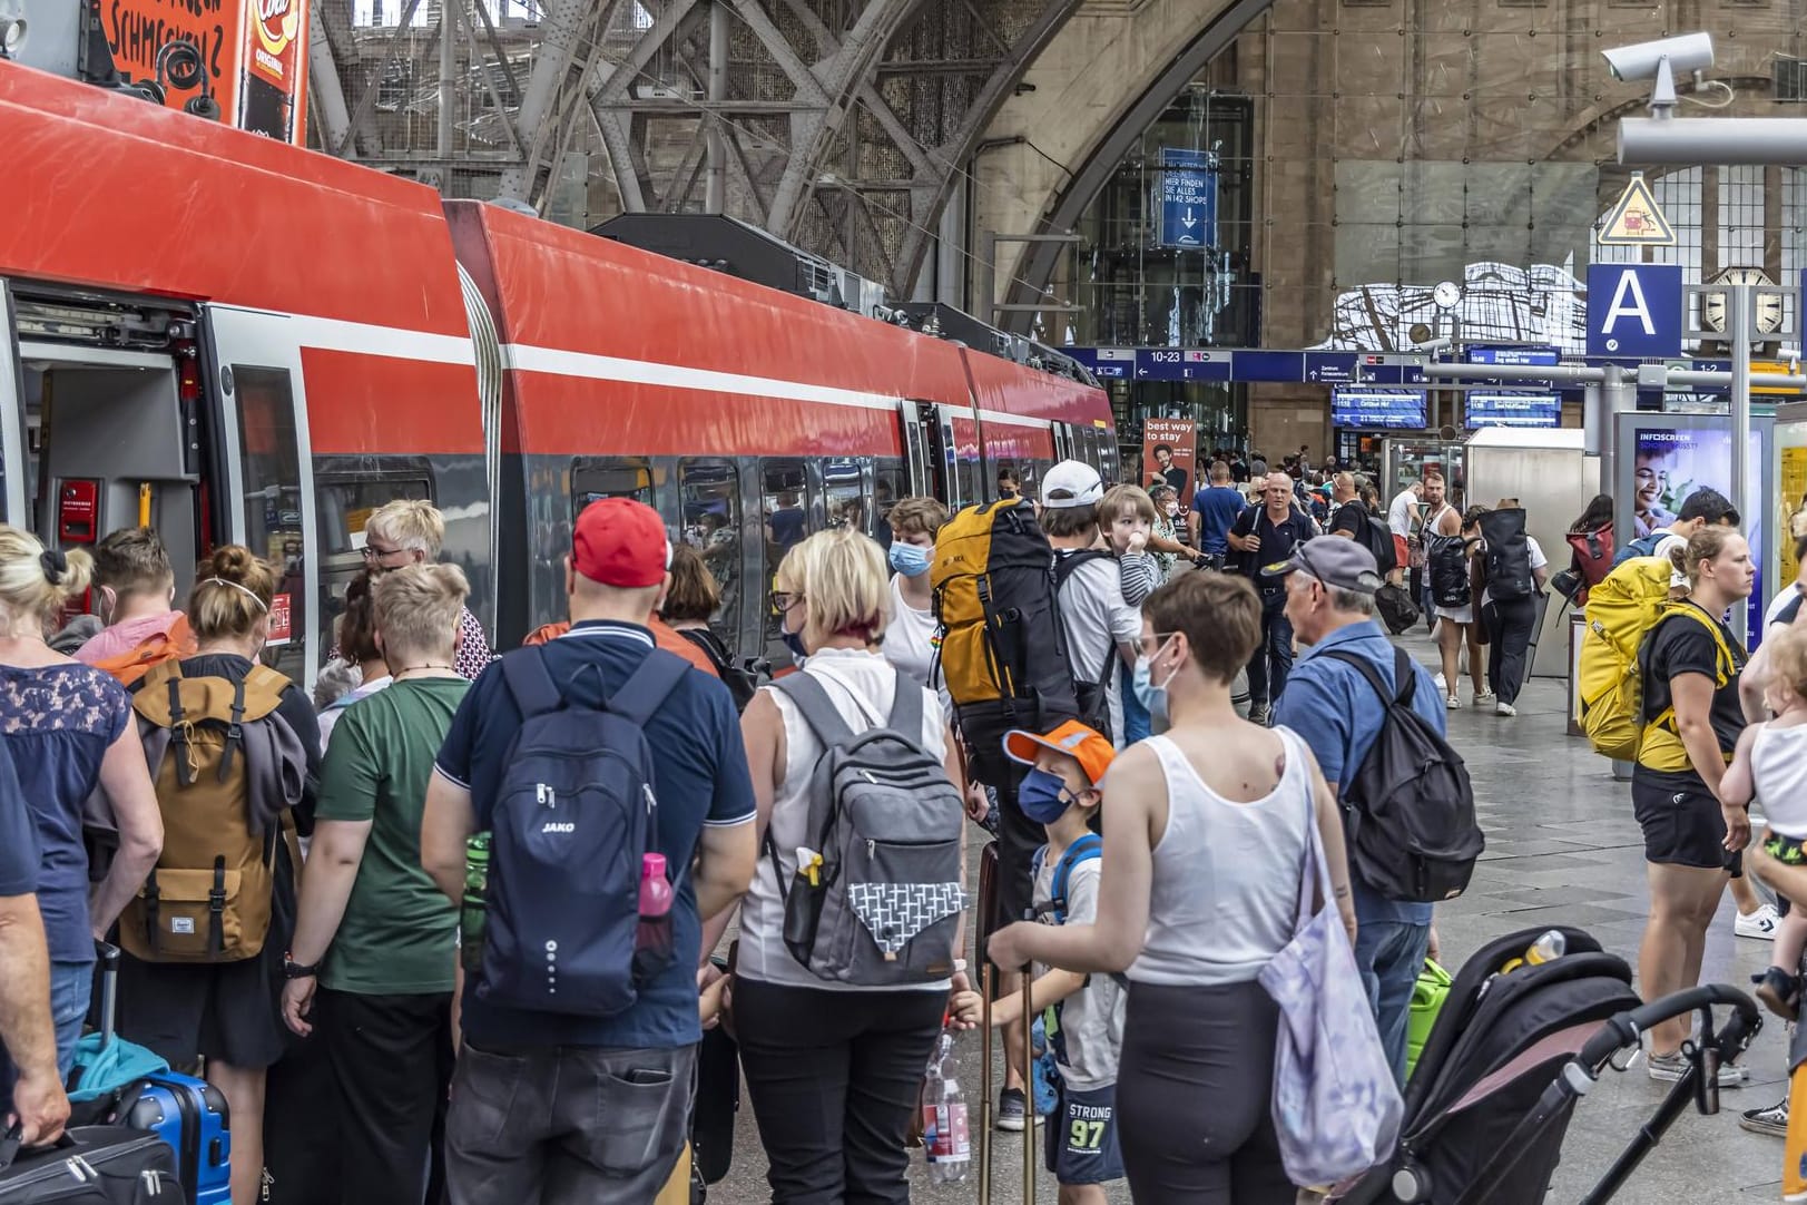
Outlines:
[{"label": "small boy in orange cap and blue face mask", "polygon": [[[1032,770],[1017,806],[1041,824],[1048,844],[1035,856],[1035,914],[1048,925],[1090,925],[1099,905],[1099,779],[1111,764],[1111,743],[1079,721],[1046,735],[1012,732],[1005,752]],[[1046,1129],[1046,1165],[1061,1185],[1061,1205],[1104,1205],[1104,1185],[1122,1180],[1117,1149],[1117,1055],[1122,1046],[1124,995],[1109,976],[1044,968],[1030,1004],[1048,1012],[1059,1104]],[[954,1001],[956,1017],[972,1017],[978,995]],[[992,1004],[992,1026],[1019,1026],[1023,1001]]]}]

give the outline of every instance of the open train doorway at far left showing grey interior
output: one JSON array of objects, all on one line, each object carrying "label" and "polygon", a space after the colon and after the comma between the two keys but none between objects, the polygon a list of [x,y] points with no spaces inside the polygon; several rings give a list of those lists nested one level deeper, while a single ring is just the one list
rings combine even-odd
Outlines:
[{"label": "open train doorway at far left showing grey interior", "polygon": [[155,528],[186,594],[217,518],[193,309],[22,282],[0,300],[7,522],[65,551]]}]

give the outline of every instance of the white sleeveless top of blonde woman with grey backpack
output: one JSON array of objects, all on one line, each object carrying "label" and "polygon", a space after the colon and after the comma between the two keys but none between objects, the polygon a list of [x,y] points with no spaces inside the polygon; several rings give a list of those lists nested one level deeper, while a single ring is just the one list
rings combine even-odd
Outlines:
[{"label": "white sleeveless top of blonde woman with grey backpack", "polygon": [[[891,717],[891,703],[896,699],[898,685],[905,690],[922,690],[922,746],[940,761],[947,753],[947,726],[941,708],[932,694],[923,690],[907,674],[900,674],[876,652],[862,649],[822,649],[802,668],[835,701],[840,717],[855,732],[866,732]],[[779,784],[772,799],[772,840],[779,849],[779,862],[784,867],[786,887],[790,874],[797,869],[797,845],[810,845],[813,838],[804,835],[810,822],[810,782],[815,775],[815,762],[822,755],[822,743],[815,730],[797,710],[782,690],[764,688],[784,717],[784,782]],[[820,988],[824,992],[896,992],[898,988],[860,988],[846,983],[819,979],[804,968],[784,947],[784,900],[779,896],[779,880],[772,871],[772,856],[761,845],[759,869],[754,883],[741,903],[741,956],[735,974],[761,983],[781,983],[793,988]],[[947,992],[950,981],[922,985],[923,992]]]}]

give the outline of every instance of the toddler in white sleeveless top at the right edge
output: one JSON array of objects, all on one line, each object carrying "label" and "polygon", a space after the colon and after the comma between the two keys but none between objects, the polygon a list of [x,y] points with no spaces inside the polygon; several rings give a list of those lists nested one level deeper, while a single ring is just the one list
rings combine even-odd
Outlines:
[{"label": "toddler in white sleeveless top at the right edge", "polygon": [[[1720,780],[1720,800],[1747,808],[1764,804],[1769,833],[1764,853],[1784,865],[1807,864],[1807,632],[1789,627],[1769,638],[1769,687],[1764,701],[1774,719],[1738,735],[1731,766]],[[1807,947],[1807,909],[1791,909],[1776,930],[1774,959],[1756,983],[1756,999],[1794,1021],[1800,1015],[1800,963]]]}]

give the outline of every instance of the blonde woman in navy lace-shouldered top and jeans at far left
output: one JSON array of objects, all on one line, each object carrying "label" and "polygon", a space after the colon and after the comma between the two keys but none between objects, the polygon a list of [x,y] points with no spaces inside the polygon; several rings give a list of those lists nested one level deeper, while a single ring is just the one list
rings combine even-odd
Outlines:
[{"label": "blonde woman in navy lace-shouldered top and jeans at far left", "polygon": [[[137,892],[163,849],[163,818],[132,723],[132,699],[98,668],[47,643],[63,609],[89,589],[94,560],[45,549],[0,524],[0,732],[38,829],[38,909],[51,948],[56,1066],[69,1075],[89,1014],[94,939]],[[119,847],[89,898],[83,804],[101,789]],[[0,1051],[0,1075],[5,1073]]]}]

